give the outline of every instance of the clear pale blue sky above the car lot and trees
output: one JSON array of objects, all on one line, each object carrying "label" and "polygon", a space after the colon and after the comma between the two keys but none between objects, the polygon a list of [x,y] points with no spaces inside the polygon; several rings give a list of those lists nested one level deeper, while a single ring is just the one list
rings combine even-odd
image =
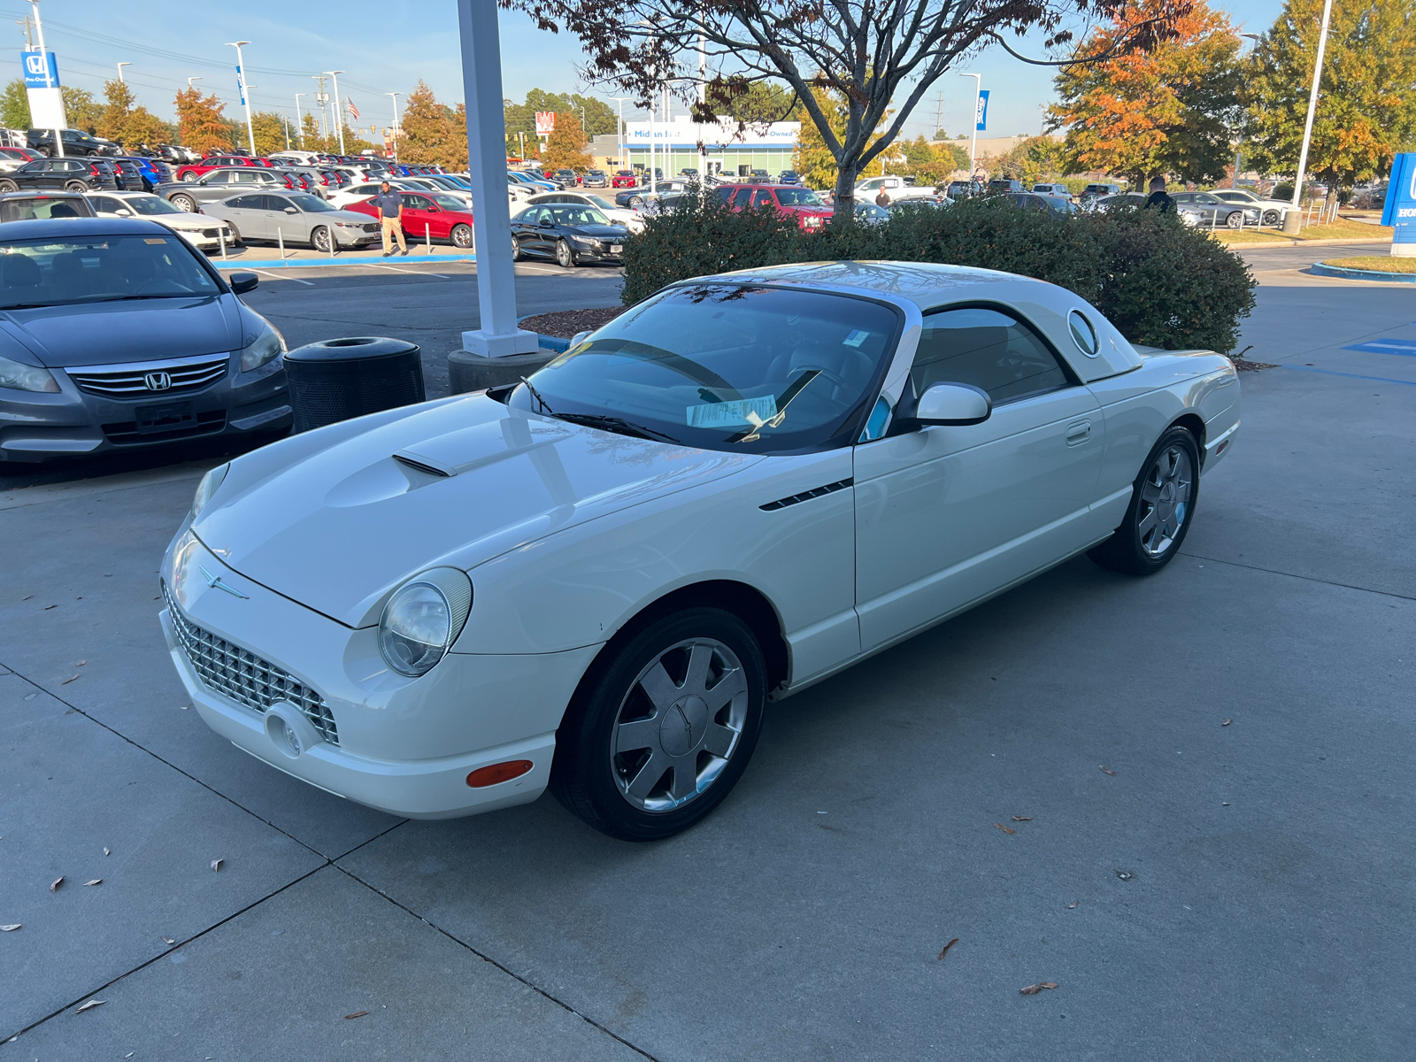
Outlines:
[{"label": "clear pale blue sky above the car lot and trees", "polygon": [[[1255,33],[1267,28],[1281,10],[1280,0],[1221,0],[1216,6]],[[8,34],[11,45],[8,52],[0,52],[0,76],[7,81],[20,74],[24,45],[24,31],[14,20],[28,10],[21,0],[0,0],[0,16],[8,27],[0,34]],[[185,88],[188,76],[200,76],[197,85],[227,99],[228,113],[235,113],[235,50],[224,42],[236,40],[252,41],[245,58],[256,109],[293,113],[296,92],[307,93],[302,106],[310,108],[316,91],[310,75],[321,69],[347,71],[340,78],[341,95],[354,99],[362,115],[360,125],[365,126],[388,125],[392,103],[382,93],[402,92],[406,98],[419,78],[439,99],[462,99],[457,13],[452,0],[346,0],[333,7],[272,0],[232,4],[146,0],[140,6],[44,0],[40,14],[45,21],[45,44],[58,54],[65,85],[101,95],[103,81],[116,72],[113,64],[130,61],[133,65],[125,69],[129,84],[139,101],[163,118],[171,118],[173,95]],[[1039,51],[1034,47],[1027,54]],[[575,38],[537,30],[525,16],[501,13],[501,55],[508,98],[523,99],[531,88],[586,92],[575,72],[582,58]],[[988,135],[1039,130],[1042,106],[1054,98],[1052,71],[1021,64],[1001,48],[957,69],[981,74],[983,86],[993,93]],[[973,79],[946,74],[905,133],[913,137],[933,132],[940,110],[943,127],[961,132],[971,103]],[[626,105],[626,118],[632,116],[640,115],[632,115]]]}]

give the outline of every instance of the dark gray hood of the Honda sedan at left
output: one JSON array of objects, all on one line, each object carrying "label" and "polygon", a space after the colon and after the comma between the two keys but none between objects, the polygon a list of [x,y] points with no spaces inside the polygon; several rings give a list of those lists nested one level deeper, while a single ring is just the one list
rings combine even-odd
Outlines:
[{"label": "dark gray hood of the Honda sedan at left", "polygon": [[0,329],[50,368],[225,354],[251,331],[232,295],[4,310]]}]

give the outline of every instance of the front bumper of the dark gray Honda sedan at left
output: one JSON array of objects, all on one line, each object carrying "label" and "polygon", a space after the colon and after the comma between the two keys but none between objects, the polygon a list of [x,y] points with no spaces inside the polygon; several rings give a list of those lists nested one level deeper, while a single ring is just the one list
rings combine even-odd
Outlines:
[{"label": "front bumper of the dark gray Honda sedan at left", "polygon": [[[62,368],[51,370],[58,394],[0,388],[0,459],[37,462],[47,457],[143,450],[188,439],[241,436],[280,430],[293,423],[285,367],[279,360],[253,372],[239,372],[231,355],[227,375],[201,391],[154,392],[136,399],[101,398],[84,391]],[[154,368],[161,364],[154,361]],[[272,368],[273,367],[273,368]],[[188,404],[191,421],[170,430],[146,430],[139,408]]]}]

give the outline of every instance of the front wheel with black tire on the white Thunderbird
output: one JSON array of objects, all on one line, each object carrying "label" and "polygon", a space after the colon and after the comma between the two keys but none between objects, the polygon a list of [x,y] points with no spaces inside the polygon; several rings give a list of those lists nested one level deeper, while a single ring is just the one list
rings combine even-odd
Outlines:
[{"label": "front wheel with black tire on the white Thunderbird", "polygon": [[[691,690],[694,680],[688,674],[688,663],[694,650],[683,647],[687,641],[700,646],[711,643],[728,650],[726,656],[711,656],[705,673],[709,678],[714,678],[715,661],[732,660],[736,664],[716,673],[711,692],[722,690],[724,683],[732,683],[739,690],[716,709],[701,700],[694,708],[688,704],[694,700],[690,694],[656,707],[640,685],[646,673],[660,661],[660,670],[674,687]],[[733,613],[704,606],[643,623],[620,640],[617,651],[610,647],[603,653],[582,680],[556,731],[551,790],[566,809],[596,830],[624,841],[657,841],[687,830],[718,807],[742,777],[762,729],[766,685],[762,649],[752,629]],[[673,697],[674,691],[668,694]],[[653,728],[654,732],[668,733],[670,738],[681,735],[688,749],[687,753],[678,750],[684,756],[681,762],[692,762],[692,770],[700,773],[680,779],[670,760],[656,762],[656,756],[668,755],[657,748],[664,742],[661,736],[654,738],[657,750],[613,752],[612,742],[623,741],[619,736],[624,732],[620,724],[651,724],[660,715],[666,722],[678,722],[683,731],[674,726],[671,731]],[[709,728],[716,733],[736,733],[722,758],[704,745],[709,741]],[[668,766],[661,766],[666,763]],[[644,796],[639,800],[660,807],[649,810],[627,794],[641,780],[640,776]],[[675,797],[674,790],[690,783],[695,790]]]}]

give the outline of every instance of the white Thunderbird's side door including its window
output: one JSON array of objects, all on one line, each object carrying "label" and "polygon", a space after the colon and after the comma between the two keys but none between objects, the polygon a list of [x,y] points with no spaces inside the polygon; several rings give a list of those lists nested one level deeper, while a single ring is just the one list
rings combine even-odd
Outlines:
[{"label": "white Thunderbird's side door including its window", "polygon": [[987,391],[990,418],[855,447],[862,650],[1089,544],[1104,421],[1041,333],[994,306],[926,314],[896,413],[943,382]]}]

